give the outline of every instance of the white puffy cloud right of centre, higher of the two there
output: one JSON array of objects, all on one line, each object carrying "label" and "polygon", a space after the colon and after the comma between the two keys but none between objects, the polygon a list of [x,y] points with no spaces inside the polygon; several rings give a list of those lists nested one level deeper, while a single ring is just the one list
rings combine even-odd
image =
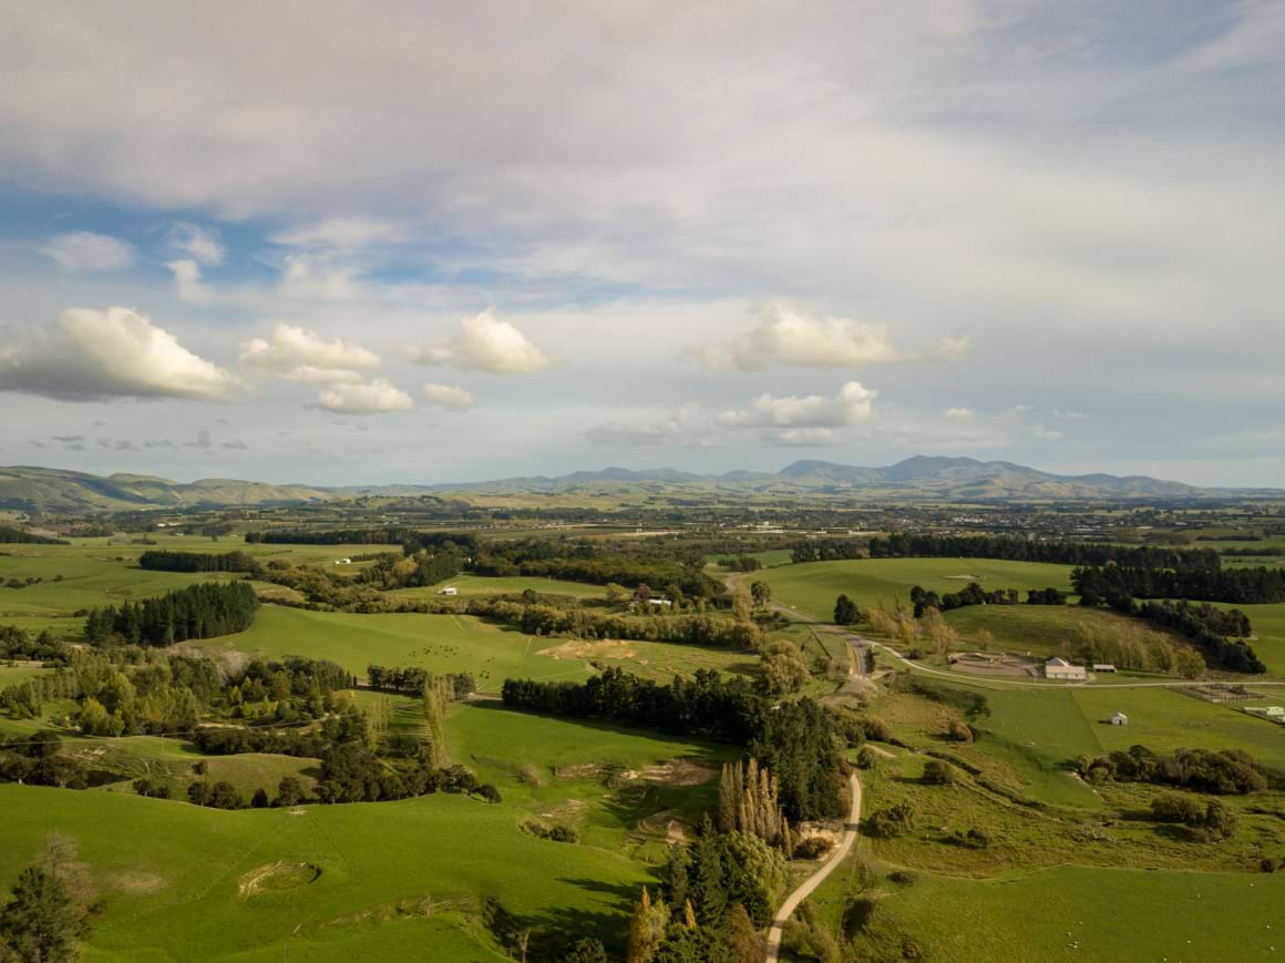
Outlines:
[{"label": "white puffy cloud right of centre, higher of the two there", "polygon": [[858,368],[903,360],[882,324],[849,318],[817,318],[783,302],[761,306],[758,323],[730,341],[689,347],[716,372],[758,372],[771,364]]}]

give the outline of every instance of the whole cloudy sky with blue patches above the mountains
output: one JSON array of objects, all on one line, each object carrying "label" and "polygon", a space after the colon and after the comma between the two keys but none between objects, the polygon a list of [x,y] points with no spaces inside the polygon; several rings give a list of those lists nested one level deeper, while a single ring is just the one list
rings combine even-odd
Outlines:
[{"label": "whole cloudy sky with blue patches above the mountains", "polygon": [[0,464],[1285,486],[1285,1],[0,22]]}]

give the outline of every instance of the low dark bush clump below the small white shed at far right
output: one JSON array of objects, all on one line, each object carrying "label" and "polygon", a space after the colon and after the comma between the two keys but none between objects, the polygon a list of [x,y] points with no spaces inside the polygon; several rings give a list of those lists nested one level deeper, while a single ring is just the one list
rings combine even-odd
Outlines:
[{"label": "low dark bush clump below the small white shed at far right", "polygon": [[1218,796],[1262,792],[1270,784],[1270,775],[1280,778],[1240,750],[1178,750],[1172,756],[1162,756],[1146,746],[1131,746],[1127,752],[1079,756],[1074,765],[1091,783],[1151,783]]}]

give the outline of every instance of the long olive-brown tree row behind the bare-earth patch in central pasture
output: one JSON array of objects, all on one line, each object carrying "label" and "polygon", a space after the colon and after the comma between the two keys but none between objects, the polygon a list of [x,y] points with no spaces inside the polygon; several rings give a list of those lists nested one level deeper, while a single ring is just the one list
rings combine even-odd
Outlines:
[{"label": "long olive-brown tree row behind the bare-earth patch in central pasture", "polygon": [[653,618],[604,613],[581,607],[524,606],[504,599],[470,599],[465,611],[469,615],[508,622],[528,635],[677,642],[738,649],[758,648],[763,642],[762,631],[753,622],[702,615]]}]

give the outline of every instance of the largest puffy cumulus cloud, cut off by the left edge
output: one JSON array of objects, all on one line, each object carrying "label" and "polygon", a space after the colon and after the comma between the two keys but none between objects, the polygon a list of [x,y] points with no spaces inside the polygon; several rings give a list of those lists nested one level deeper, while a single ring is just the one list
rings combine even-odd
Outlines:
[{"label": "largest puffy cumulus cloud, cut off by the left edge", "polygon": [[84,401],[111,397],[226,399],[243,383],[127,307],[77,307],[0,338],[0,390]]}]

